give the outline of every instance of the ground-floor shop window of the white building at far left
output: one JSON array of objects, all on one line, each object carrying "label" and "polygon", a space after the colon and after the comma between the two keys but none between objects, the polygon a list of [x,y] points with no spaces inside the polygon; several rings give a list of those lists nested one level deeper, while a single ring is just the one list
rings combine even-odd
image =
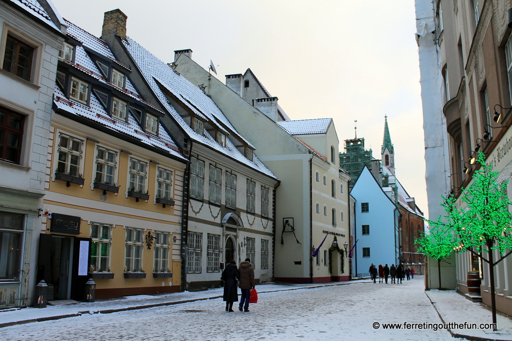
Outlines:
[{"label": "ground-floor shop window of the white building at far left", "polygon": [[19,281],[24,216],[0,212],[0,280]]}]

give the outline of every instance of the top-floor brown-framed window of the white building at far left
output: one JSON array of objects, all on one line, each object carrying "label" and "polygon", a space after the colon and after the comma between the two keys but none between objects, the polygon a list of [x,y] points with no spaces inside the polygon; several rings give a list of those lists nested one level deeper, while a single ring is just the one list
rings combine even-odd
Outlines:
[{"label": "top-floor brown-framed window of the white building at far left", "polygon": [[8,34],[2,69],[30,81],[33,55],[33,47]]}]

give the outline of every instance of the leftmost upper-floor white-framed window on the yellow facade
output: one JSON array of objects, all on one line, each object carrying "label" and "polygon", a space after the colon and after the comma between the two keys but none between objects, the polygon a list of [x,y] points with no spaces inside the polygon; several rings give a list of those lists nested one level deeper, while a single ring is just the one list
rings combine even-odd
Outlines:
[{"label": "leftmost upper-floor white-framed window on the yellow facade", "polygon": [[60,134],[58,144],[57,173],[81,177],[80,160],[82,158],[83,141]]}]

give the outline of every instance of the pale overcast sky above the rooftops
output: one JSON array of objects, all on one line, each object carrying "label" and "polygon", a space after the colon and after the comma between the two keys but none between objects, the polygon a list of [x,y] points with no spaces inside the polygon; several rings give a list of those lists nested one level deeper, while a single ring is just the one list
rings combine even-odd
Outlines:
[{"label": "pale overcast sky above the rooftops", "polygon": [[192,49],[223,82],[250,68],[291,119],[332,117],[341,152],[357,120],[357,136],[380,159],[388,115],[396,176],[428,214],[412,0],[52,1],[96,36],[103,13],[119,8],[127,35],[158,58]]}]

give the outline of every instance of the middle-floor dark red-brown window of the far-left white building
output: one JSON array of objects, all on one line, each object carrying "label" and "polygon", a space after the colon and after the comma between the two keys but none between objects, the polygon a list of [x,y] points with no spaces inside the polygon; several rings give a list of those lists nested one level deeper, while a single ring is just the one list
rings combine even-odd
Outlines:
[{"label": "middle-floor dark red-brown window of the far-left white building", "polygon": [[24,120],[23,115],[0,106],[0,159],[19,164]]}]

